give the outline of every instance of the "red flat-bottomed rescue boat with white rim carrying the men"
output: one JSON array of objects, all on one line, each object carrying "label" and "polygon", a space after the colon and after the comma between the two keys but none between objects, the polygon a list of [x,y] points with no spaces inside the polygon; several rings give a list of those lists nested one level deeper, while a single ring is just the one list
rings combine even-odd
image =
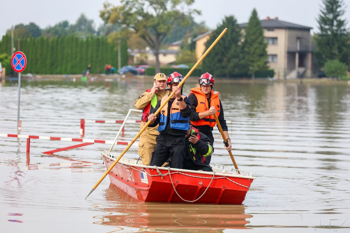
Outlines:
[{"label": "red flat-bottomed rescue boat with white rim carrying the men", "polygon": [[[101,153],[107,169],[117,158]],[[109,173],[111,183],[142,202],[240,205],[255,179],[251,172],[230,171],[217,163],[213,172],[152,167],[121,158]],[[238,171],[240,174],[238,174]]]}]

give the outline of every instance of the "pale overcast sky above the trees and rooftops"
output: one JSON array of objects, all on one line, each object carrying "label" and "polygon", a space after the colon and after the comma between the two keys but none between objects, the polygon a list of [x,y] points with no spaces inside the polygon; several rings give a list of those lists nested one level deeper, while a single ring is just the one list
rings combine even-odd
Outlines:
[{"label": "pale overcast sky above the trees and rooftops", "polygon": [[[0,3],[0,36],[12,25],[34,22],[41,28],[68,20],[73,23],[81,13],[93,19],[96,27],[102,23],[99,10],[105,0],[3,0]],[[110,0],[114,5],[118,0]],[[350,1],[346,6],[345,18],[350,19]],[[195,20],[205,21],[210,28],[216,28],[225,15],[235,15],[239,23],[247,22],[255,7],[260,19],[266,16],[279,17],[280,20],[302,24],[317,30],[316,17],[321,0],[196,0],[194,8],[202,11]],[[350,24],[348,23],[348,27]]]}]

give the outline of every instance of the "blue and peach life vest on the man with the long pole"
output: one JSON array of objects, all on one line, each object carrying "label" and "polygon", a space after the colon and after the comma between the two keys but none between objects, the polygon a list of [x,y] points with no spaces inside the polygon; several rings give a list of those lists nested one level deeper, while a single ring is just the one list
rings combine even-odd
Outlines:
[{"label": "blue and peach life vest on the man with the long pole", "polygon": [[[183,99],[185,99],[186,96],[181,95]],[[160,102],[160,105],[162,105],[166,100],[168,96],[164,96]],[[168,118],[168,104],[166,104],[162,110],[160,111],[160,120],[159,120],[159,126],[158,131],[161,132],[165,130],[165,126],[167,124],[167,118]],[[179,129],[179,130],[189,130],[190,125],[188,124],[189,117],[183,118],[180,113],[180,106],[179,101],[176,99],[174,100],[172,104],[172,108],[170,109],[170,128],[172,129]]]}]

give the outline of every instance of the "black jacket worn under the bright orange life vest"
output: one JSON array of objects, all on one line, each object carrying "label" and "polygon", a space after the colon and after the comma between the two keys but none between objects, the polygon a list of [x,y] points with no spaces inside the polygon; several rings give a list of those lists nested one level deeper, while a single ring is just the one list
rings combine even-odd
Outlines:
[{"label": "black jacket worn under the bright orange life vest", "polygon": [[[198,100],[195,94],[191,93],[188,96],[188,99],[191,102],[191,116],[190,116],[190,121],[194,122],[194,121],[199,121],[199,113],[196,112],[196,107],[198,106]],[[208,104],[209,104],[209,108],[210,108],[210,98],[208,100]],[[226,125],[226,120],[224,118],[224,109],[222,107],[222,103],[220,100],[220,114],[219,114],[219,122],[221,125],[221,128],[223,131],[229,131],[227,125]],[[209,110],[209,109],[208,109]],[[210,133],[211,131],[213,131],[214,128],[210,127],[209,125],[195,125],[196,129],[201,131],[202,133]]]}]

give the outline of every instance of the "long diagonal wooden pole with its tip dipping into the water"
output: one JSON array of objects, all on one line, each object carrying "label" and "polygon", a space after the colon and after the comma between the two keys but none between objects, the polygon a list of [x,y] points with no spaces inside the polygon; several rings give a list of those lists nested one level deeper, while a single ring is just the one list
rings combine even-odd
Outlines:
[{"label": "long diagonal wooden pole with its tip dipping into the water", "polygon": [[[223,37],[223,35],[226,33],[228,29],[225,28],[221,34],[216,38],[216,40],[210,45],[210,47],[205,51],[205,53],[202,55],[202,57],[197,61],[197,63],[192,67],[192,69],[186,74],[186,76],[183,78],[183,80],[177,85],[178,87],[181,87],[183,83],[186,81],[186,79],[192,74],[192,72],[197,68],[197,66],[202,62],[202,60],[207,56],[207,54],[210,52],[210,50],[218,43],[218,41]],[[170,95],[168,96],[167,100],[158,108],[158,110],[154,113],[154,115],[158,115],[161,109],[168,104],[168,101],[173,97],[175,93],[171,92]],[[148,127],[148,125],[151,123],[151,121],[146,122],[144,127],[138,132],[138,134],[131,140],[131,143],[127,145],[127,147],[124,149],[123,152],[119,155],[119,157],[116,159],[116,161],[113,162],[113,164],[106,170],[106,172],[103,174],[103,176],[100,178],[100,180],[95,184],[95,186],[91,189],[89,194],[85,197],[85,199],[97,188],[97,186],[103,181],[103,179],[108,175],[108,173],[112,170],[114,166],[119,162],[121,157],[129,150],[129,148],[132,146],[132,144],[140,137],[141,133],[145,131],[145,129]]]}]

